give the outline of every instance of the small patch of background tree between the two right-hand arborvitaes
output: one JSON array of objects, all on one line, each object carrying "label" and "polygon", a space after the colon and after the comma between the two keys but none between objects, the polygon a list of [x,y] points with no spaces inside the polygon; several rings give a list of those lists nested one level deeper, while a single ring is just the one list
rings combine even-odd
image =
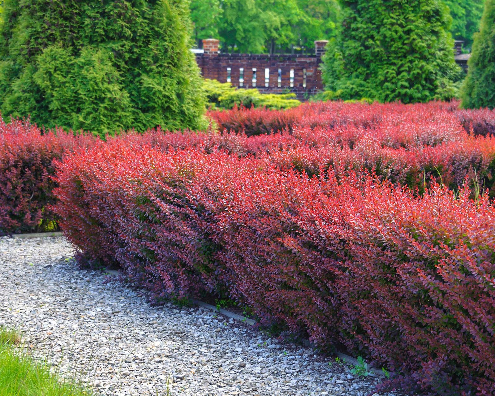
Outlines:
[{"label": "small patch of background tree between the two right-hand arborvitaes", "polygon": [[444,0],[450,9],[452,27],[450,32],[455,40],[464,41],[464,49],[469,52],[473,35],[480,27],[485,0]]}]

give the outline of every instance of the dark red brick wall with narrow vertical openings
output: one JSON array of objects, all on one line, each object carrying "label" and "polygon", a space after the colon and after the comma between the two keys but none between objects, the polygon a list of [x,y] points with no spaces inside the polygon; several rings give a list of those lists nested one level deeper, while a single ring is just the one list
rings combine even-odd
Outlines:
[{"label": "dark red brick wall with narrow vertical openings", "polygon": [[219,53],[218,44],[216,39],[203,40],[204,53],[196,54],[204,78],[222,83],[230,79],[235,87],[257,88],[262,93],[290,91],[298,99],[323,89],[318,66],[327,41],[315,42],[315,55]]}]

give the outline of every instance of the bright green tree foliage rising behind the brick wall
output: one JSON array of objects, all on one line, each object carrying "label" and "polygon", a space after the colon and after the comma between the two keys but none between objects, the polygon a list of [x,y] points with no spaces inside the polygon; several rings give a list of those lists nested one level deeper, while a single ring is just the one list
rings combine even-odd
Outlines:
[{"label": "bright green tree foliage rising behind the brick wall", "polygon": [[335,36],[337,0],[193,0],[199,41],[214,37],[224,52],[312,51],[315,40]]}]

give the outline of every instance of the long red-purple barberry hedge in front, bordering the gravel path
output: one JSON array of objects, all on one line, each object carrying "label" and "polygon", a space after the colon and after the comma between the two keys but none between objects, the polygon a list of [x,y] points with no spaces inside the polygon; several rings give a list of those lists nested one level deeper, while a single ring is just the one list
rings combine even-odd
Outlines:
[{"label": "long red-purple barberry hedge in front, bordering the gravel path", "polygon": [[58,163],[56,212],[86,265],[167,297],[212,293],[339,343],[432,395],[495,393],[495,211],[436,184],[308,178],[250,155],[124,139]]}]

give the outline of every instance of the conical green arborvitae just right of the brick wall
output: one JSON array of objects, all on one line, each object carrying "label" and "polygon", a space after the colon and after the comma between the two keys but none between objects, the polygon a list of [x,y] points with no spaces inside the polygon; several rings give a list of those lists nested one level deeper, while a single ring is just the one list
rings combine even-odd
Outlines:
[{"label": "conical green arborvitae just right of the brick wall", "polygon": [[343,99],[450,99],[460,78],[451,18],[440,0],[343,0],[342,26],[324,56],[326,89]]}]

